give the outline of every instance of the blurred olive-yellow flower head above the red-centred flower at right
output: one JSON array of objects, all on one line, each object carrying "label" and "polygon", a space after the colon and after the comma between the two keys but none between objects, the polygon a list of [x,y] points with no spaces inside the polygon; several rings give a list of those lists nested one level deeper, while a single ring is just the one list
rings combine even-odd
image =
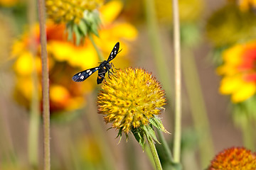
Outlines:
[{"label": "blurred olive-yellow flower head above the red-centred flower at right", "polygon": [[215,47],[233,45],[256,38],[256,16],[240,11],[233,3],[218,9],[208,19],[206,34]]}]

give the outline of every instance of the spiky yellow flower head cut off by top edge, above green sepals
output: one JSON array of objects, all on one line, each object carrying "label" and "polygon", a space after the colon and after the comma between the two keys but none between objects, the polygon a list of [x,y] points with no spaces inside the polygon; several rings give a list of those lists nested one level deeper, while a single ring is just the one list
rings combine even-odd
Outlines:
[{"label": "spiky yellow flower head cut off by top edge, above green sepals", "polygon": [[84,11],[92,11],[102,5],[104,0],[46,0],[48,17],[55,22],[79,23]]}]

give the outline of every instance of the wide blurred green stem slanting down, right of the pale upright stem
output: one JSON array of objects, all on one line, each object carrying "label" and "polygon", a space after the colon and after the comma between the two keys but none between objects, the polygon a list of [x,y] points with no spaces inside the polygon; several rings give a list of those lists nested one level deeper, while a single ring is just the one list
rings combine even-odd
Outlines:
[{"label": "wide blurred green stem slanting down, right of the pale upright stem", "polygon": [[[210,136],[210,125],[205,107],[206,104],[203,100],[196,62],[192,52],[186,48],[183,48],[182,52],[183,56],[186,56],[182,60],[182,70],[186,89],[188,90],[193,124],[199,137],[198,145],[201,167],[206,167],[214,155],[213,140]],[[193,79],[193,81],[191,81],[191,79]]]}]

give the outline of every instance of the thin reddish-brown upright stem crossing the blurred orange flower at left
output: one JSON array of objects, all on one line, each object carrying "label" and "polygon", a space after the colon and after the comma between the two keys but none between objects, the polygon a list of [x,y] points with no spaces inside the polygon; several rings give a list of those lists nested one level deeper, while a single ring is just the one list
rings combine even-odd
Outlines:
[{"label": "thin reddish-brown upright stem crossing the blurred orange flower at left", "polygon": [[50,102],[49,73],[46,50],[46,10],[45,1],[38,0],[38,17],[40,25],[41,60],[42,60],[42,91],[43,91],[43,168],[50,170]]}]

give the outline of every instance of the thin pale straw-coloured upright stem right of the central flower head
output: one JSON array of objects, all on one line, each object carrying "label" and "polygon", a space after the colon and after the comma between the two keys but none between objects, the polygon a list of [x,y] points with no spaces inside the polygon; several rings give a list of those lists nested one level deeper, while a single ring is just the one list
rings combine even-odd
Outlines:
[{"label": "thin pale straw-coloured upright stem right of the central flower head", "polygon": [[174,67],[175,67],[175,120],[174,120],[174,162],[181,159],[181,40],[178,21],[178,1],[173,0],[174,15]]}]

